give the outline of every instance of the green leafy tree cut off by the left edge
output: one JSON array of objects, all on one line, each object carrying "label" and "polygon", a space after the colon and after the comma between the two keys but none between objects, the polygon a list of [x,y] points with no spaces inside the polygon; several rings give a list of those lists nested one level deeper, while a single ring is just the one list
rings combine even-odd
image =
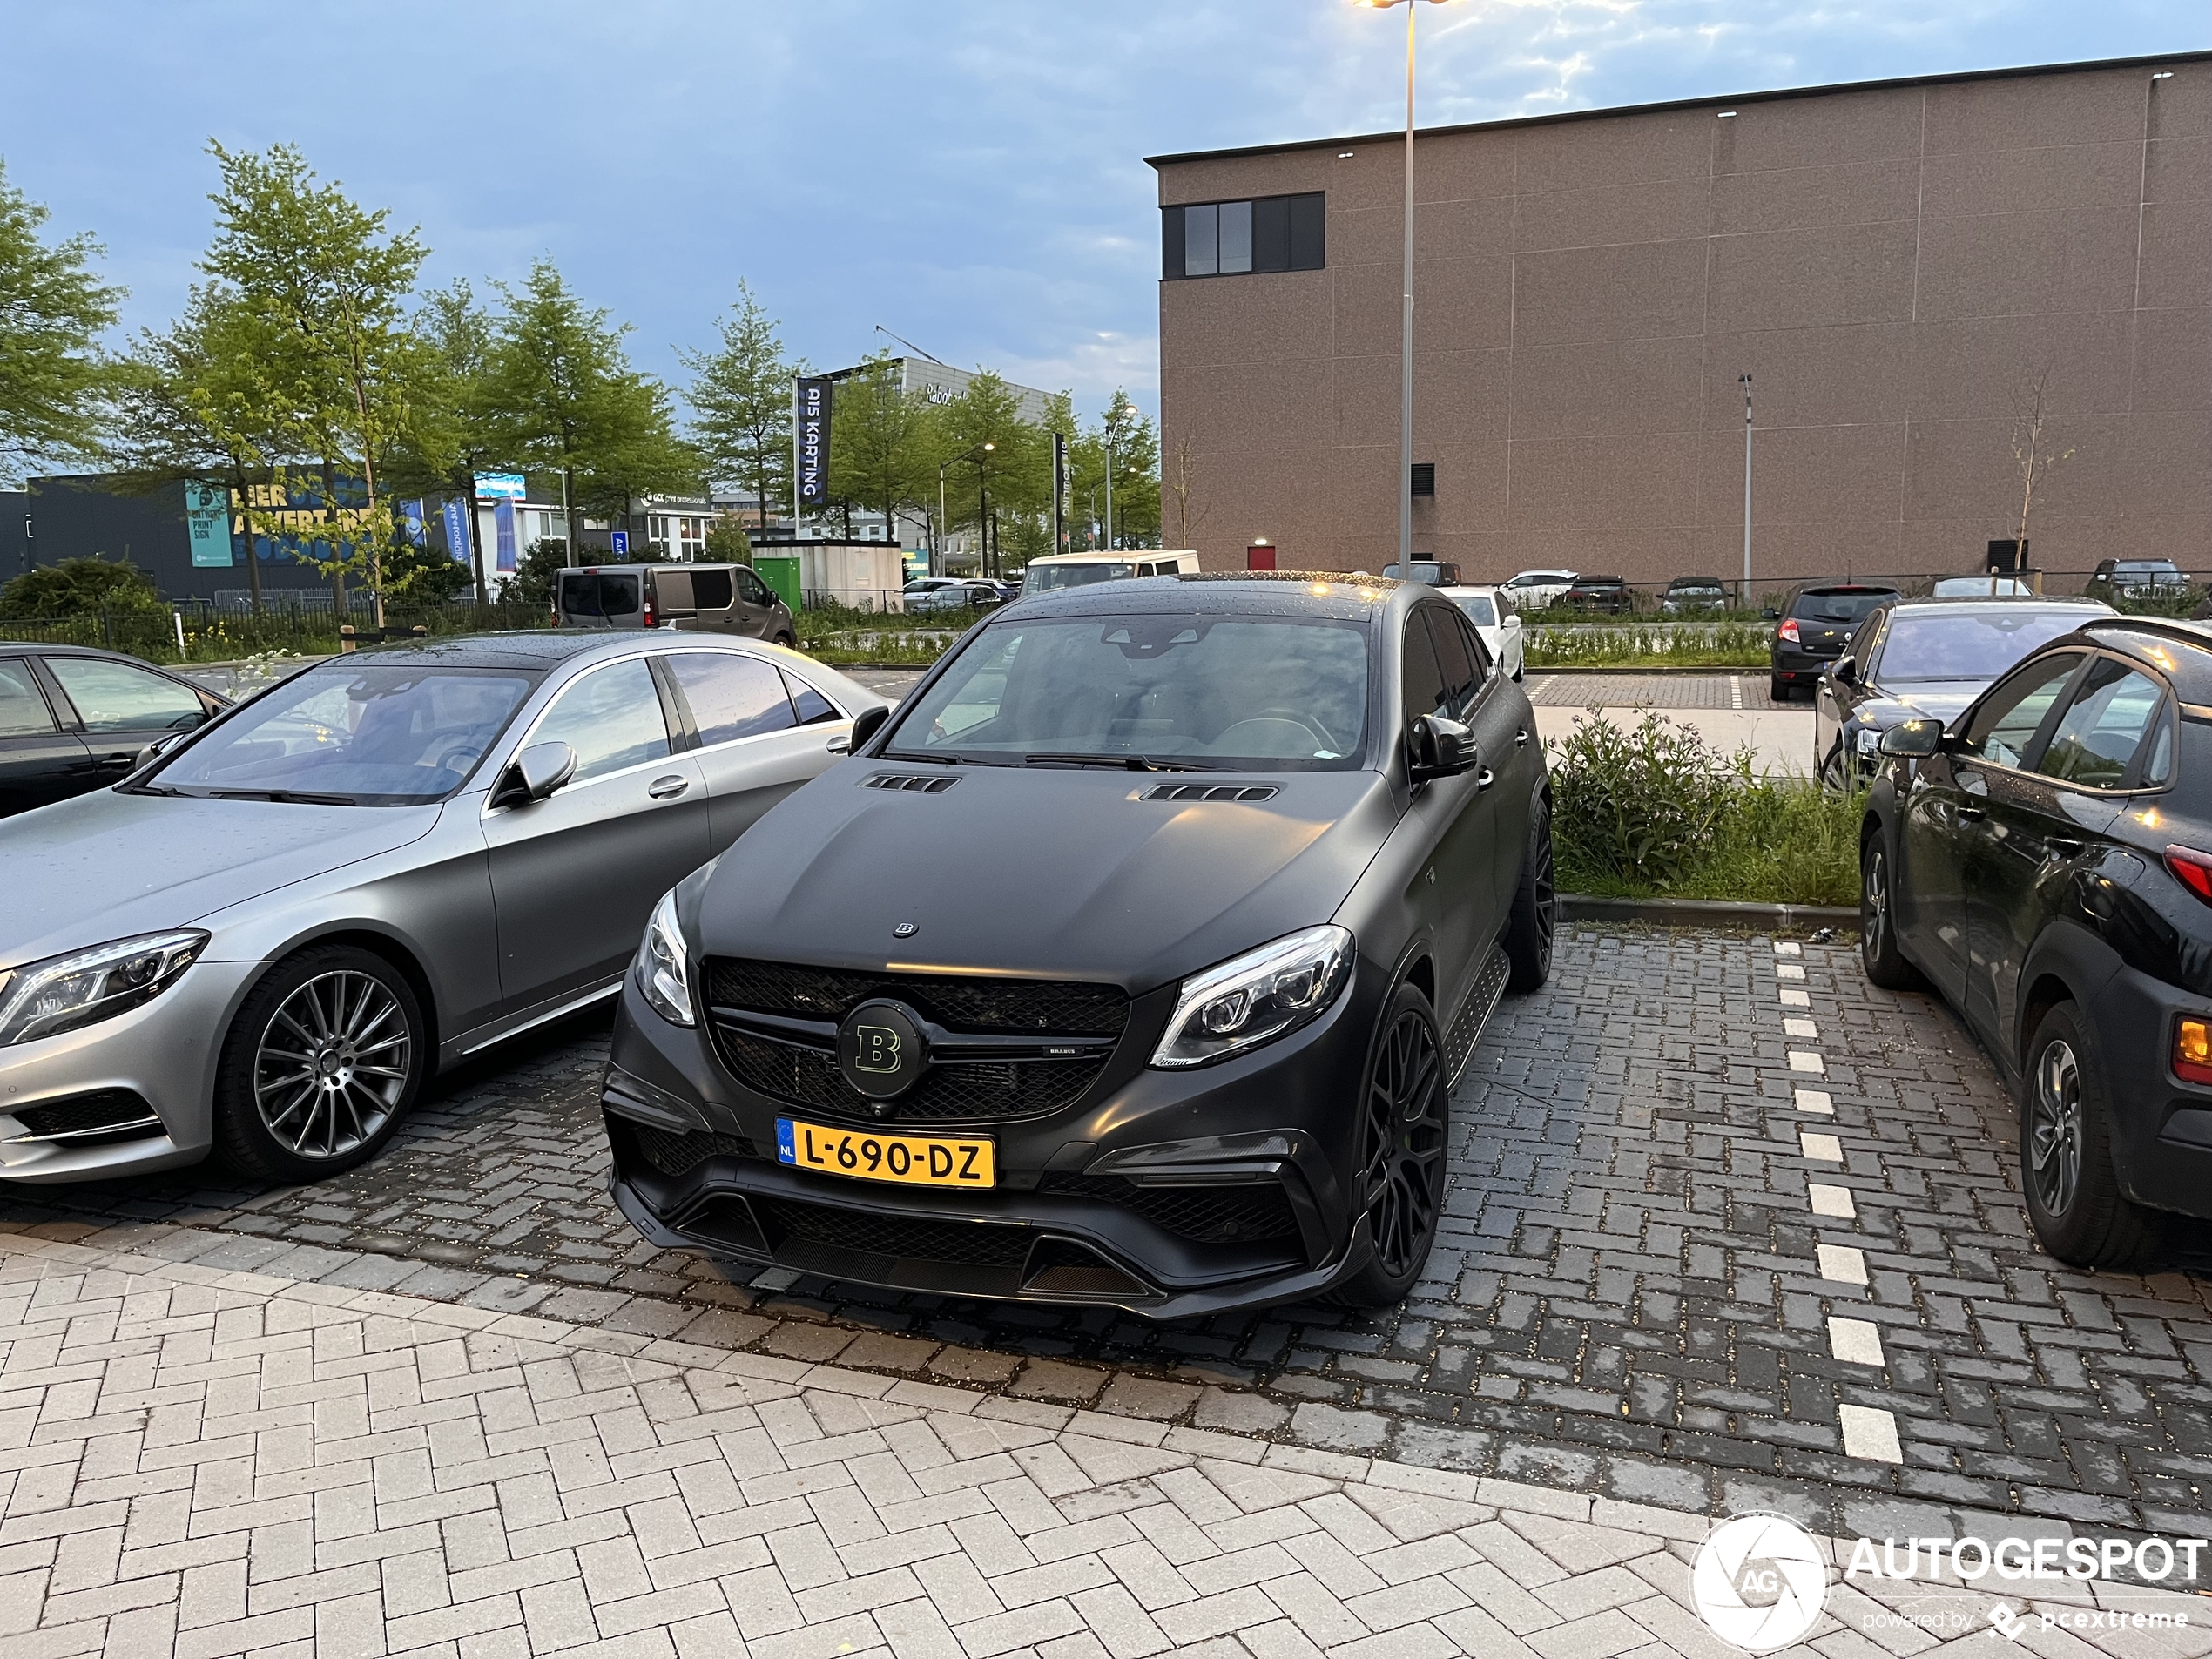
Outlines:
[{"label": "green leafy tree cut off by the left edge", "polygon": [[88,234],[40,239],[46,217],[0,164],[0,482],[97,451],[113,383],[97,341],[124,290],[93,276]]}]

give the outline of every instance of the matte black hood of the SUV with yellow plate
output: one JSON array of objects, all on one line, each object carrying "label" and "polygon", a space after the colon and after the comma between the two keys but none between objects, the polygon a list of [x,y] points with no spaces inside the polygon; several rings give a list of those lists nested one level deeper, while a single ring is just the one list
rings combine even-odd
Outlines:
[{"label": "matte black hood of the SUV with yellow plate", "polygon": [[[699,898],[708,956],[984,969],[1130,993],[1336,916],[1398,821],[1376,772],[911,768],[856,759],[770,810]],[[1146,801],[1161,785],[1276,785],[1270,801]],[[909,938],[891,929],[914,922]]]}]

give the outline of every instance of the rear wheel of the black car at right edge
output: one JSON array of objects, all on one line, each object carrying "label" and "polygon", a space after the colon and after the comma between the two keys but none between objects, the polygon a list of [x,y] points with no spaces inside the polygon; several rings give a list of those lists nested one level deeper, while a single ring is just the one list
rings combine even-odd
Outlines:
[{"label": "rear wheel of the black car at right edge", "polygon": [[2119,1190],[2104,1057],[2081,1011],[2059,1002],[2028,1040],[2020,1082],[2020,1190],[2035,1237],[2075,1267],[2137,1267],[2163,1217]]}]

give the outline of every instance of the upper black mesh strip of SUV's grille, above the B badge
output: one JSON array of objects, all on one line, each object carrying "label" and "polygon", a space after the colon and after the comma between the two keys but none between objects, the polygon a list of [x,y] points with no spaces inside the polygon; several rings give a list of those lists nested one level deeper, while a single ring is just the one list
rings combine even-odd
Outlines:
[{"label": "upper black mesh strip of SUV's grille, above the B badge", "polygon": [[708,1002],[799,1020],[843,1020],[869,998],[911,1002],[949,1031],[1119,1037],[1128,995],[1115,984],[980,973],[869,973],[710,958]]}]

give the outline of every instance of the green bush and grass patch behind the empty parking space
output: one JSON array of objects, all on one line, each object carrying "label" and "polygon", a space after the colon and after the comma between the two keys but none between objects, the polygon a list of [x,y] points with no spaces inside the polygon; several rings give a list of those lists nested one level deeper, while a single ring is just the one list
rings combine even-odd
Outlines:
[{"label": "green bush and grass patch behind the empty parking space", "polygon": [[1856,905],[1860,792],[1752,772],[1659,714],[1588,717],[1551,768],[1559,889],[1597,898]]}]

